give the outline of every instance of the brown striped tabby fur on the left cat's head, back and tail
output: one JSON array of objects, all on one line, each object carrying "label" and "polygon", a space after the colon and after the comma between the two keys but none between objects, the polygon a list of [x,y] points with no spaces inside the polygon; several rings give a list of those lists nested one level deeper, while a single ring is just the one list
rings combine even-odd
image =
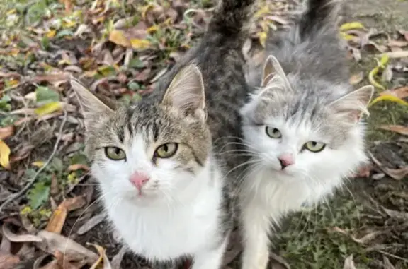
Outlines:
[{"label": "brown striped tabby fur on the left cat's head, back and tail", "polygon": [[[136,133],[143,133],[147,143],[185,145],[178,154],[181,169],[194,173],[210,157],[224,169],[227,178],[220,205],[220,244],[234,223],[234,190],[242,172],[234,167],[246,160],[234,152],[243,148],[239,109],[246,102],[249,88],[244,78],[242,46],[249,34],[247,25],[254,1],[222,1],[201,42],[169,71],[151,95],[131,107],[113,111],[77,90],[84,105],[86,153],[92,162],[101,160],[104,146],[126,144]],[[163,102],[171,82],[190,64],[198,66],[203,76],[206,122],[188,109],[180,111]],[[74,84],[73,88],[78,88]]]}]

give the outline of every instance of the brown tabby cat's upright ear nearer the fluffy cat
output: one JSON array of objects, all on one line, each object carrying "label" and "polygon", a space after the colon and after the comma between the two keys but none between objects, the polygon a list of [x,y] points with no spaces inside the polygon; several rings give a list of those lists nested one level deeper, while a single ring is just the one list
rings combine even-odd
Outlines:
[{"label": "brown tabby cat's upright ear nearer the fluffy cat", "polygon": [[205,119],[205,91],[200,69],[193,64],[181,69],[167,88],[162,104]]}]

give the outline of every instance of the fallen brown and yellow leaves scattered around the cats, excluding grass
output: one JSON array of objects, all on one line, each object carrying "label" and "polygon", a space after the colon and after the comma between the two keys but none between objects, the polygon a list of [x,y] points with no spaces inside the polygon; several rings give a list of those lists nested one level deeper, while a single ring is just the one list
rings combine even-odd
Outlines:
[{"label": "fallen brown and yellow leaves scattered around the cats, excluding grass", "polygon": [[[39,1],[24,10],[10,8],[16,22],[0,42],[0,165],[4,167],[0,192],[16,198],[7,204],[1,201],[0,220],[13,227],[2,228],[1,268],[16,268],[26,259],[11,252],[16,244],[31,247],[35,268],[147,266],[140,260],[130,263],[126,249],[108,238],[105,215],[93,205],[96,183],[88,177],[89,162],[81,157],[83,121],[68,80],[75,76],[86,81],[103,98],[139,100],[202,35],[213,11],[213,3],[204,2],[131,1],[121,6],[118,1],[62,0],[57,6]],[[298,1],[259,1],[246,57],[260,55],[268,32],[290,27],[299,13]],[[393,83],[399,73],[408,71],[407,31],[390,35],[350,20],[340,32],[355,61],[377,55],[370,72],[359,70],[349,81],[359,85],[368,78],[378,89],[370,110],[390,102],[406,105],[407,85]],[[404,122],[390,121],[376,128],[407,136]],[[362,167],[356,177],[368,181],[382,174],[402,181],[408,174],[406,167],[385,165],[375,153],[371,160],[373,165]],[[389,217],[397,219],[403,207],[392,208],[398,210],[387,211]],[[378,235],[369,232],[351,240],[371,241],[373,234]],[[241,250],[237,244],[229,249],[225,268],[235,268]],[[348,257],[344,268],[360,262],[357,254],[354,259],[350,254],[344,255]],[[272,258],[281,267],[299,268],[281,255]],[[381,257],[385,268],[396,261],[392,256],[390,260]]]}]

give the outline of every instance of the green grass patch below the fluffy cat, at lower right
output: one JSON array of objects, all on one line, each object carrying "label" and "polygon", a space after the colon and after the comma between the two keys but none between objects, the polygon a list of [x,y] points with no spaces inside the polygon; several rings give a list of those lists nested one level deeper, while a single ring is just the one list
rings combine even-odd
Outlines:
[{"label": "green grass patch below the fluffy cat, at lower right", "polygon": [[336,196],[336,199],[317,208],[307,209],[289,218],[288,228],[277,233],[280,256],[292,268],[342,268],[346,257],[353,254],[358,268],[366,268],[369,261],[363,246],[352,241],[334,227],[352,232],[360,226],[361,206],[353,199]]}]

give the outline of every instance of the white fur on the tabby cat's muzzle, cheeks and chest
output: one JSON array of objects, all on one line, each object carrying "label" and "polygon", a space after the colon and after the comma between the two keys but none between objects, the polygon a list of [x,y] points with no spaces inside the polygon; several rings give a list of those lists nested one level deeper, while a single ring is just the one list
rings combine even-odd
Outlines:
[{"label": "white fur on the tabby cat's muzzle, cheeks and chest", "polygon": [[[222,178],[217,170],[211,175],[211,160],[194,177],[174,169],[171,158],[157,160],[155,167],[142,136],[126,148],[126,161],[106,158],[92,167],[108,216],[125,244],[151,261],[188,255],[194,258],[193,269],[220,268],[226,244],[225,239],[220,245],[219,232]],[[129,181],[135,171],[150,177],[142,196]]]}]

